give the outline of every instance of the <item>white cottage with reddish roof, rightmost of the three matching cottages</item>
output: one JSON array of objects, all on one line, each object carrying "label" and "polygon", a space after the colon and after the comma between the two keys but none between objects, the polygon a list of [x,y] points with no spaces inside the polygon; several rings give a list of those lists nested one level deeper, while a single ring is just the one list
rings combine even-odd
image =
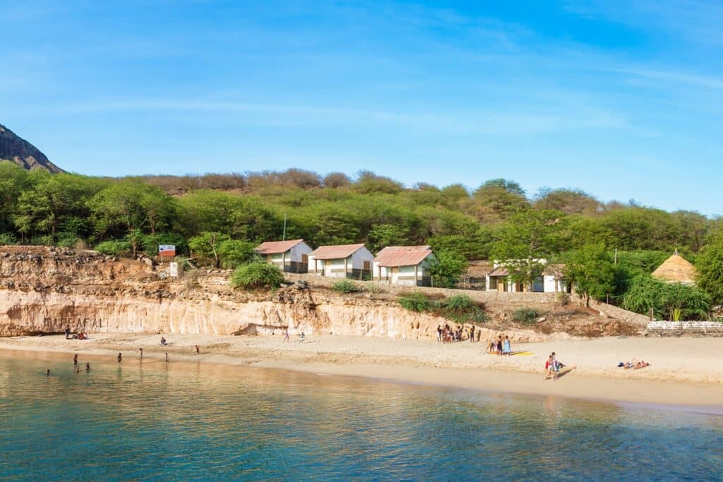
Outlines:
[{"label": "white cottage with reddish roof, rightmost of the three matching cottages", "polygon": [[429,246],[387,246],[372,261],[372,280],[394,285],[429,286],[430,263],[435,259]]}]

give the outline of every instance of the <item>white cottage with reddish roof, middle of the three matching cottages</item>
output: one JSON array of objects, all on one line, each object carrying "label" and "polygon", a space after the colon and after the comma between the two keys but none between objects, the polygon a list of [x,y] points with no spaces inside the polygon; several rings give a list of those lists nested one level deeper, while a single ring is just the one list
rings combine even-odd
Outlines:
[{"label": "white cottage with reddish roof, middle of the three matching cottages", "polygon": [[308,272],[326,277],[369,280],[372,277],[372,254],[364,244],[319,246],[309,253]]}]

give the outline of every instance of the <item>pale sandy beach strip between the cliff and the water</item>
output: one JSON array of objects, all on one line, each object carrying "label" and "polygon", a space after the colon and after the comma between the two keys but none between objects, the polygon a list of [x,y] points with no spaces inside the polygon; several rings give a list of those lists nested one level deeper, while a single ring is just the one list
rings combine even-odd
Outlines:
[{"label": "pale sandy beach strip between the cliff and the water", "polygon": [[[170,345],[160,344],[165,336]],[[199,345],[200,354],[195,353]],[[91,335],[66,340],[62,335],[0,340],[1,350],[82,353],[108,356],[120,351],[126,363],[144,357],[171,361],[224,363],[335,376],[367,376],[394,382],[444,385],[521,395],[554,395],[653,405],[685,405],[723,411],[723,346],[716,338],[607,337],[560,340],[513,346],[513,356],[484,353],[484,343],[442,344],[422,340],[372,337],[283,335],[234,337],[213,335]],[[575,369],[558,380],[543,380],[544,361],[557,358]],[[633,357],[651,365],[617,368]]]}]

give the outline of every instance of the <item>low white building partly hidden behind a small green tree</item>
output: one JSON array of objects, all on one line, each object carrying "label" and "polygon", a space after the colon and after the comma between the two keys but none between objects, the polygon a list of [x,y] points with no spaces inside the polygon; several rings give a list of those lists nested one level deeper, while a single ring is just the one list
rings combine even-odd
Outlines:
[{"label": "low white building partly hidden behind a small green tree", "polygon": [[487,275],[487,291],[510,291],[513,293],[574,293],[574,286],[565,280],[562,272],[564,264],[552,264],[547,259],[533,259],[532,262],[544,266],[541,275],[529,284],[512,280],[510,270],[520,261],[508,259],[500,261],[495,259],[494,269]]}]

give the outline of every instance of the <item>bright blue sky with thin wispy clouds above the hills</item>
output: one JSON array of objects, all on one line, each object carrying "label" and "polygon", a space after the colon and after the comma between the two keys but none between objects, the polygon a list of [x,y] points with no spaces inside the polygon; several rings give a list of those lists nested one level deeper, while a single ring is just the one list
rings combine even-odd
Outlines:
[{"label": "bright blue sky with thin wispy clouds above the hills", "polygon": [[723,213],[714,1],[0,0],[0,19],[0,123],[69,171],[505,177]]}]

